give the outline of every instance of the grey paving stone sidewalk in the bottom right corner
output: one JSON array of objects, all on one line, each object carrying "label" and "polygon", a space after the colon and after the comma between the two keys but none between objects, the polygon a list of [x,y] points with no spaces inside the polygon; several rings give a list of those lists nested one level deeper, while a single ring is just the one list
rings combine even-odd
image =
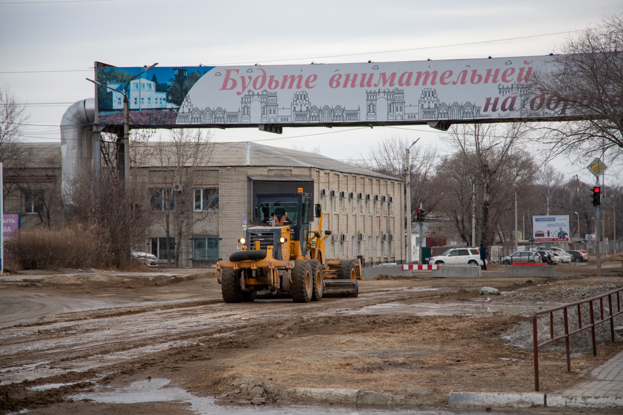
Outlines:
[{"label": "grey paving stone sidewalk in the bottom right corner", "polygon": [[623,351],[591,371],[594,379],[561,392],[566,396],[623,396]]}]

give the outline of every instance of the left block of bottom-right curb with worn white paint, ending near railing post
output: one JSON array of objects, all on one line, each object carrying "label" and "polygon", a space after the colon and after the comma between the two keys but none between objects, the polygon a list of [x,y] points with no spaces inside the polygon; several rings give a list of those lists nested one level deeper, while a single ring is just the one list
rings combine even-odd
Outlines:
[{"label": "left block of bottom-right curb with worn white paint, ending near railing post", "polygon": [[485,393],[450,392],[448,404],[452,406],[490,406],[491,408],[530,408],[545,406],[545,393]]}]

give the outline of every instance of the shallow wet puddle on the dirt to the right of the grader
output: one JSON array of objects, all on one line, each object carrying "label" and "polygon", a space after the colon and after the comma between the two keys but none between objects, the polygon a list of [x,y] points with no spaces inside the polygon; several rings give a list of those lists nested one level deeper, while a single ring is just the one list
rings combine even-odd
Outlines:
[{"label": "shallow wet puddle on the dirt to the right of the grader", "polygon": [[464,303],[402,303],[391,302],[366,305],[356,310],[342,310],[336,314],[411,314],[411,315],[475,315],[482,313],[508,312],[510,309],[523,310],[525,305]]}]

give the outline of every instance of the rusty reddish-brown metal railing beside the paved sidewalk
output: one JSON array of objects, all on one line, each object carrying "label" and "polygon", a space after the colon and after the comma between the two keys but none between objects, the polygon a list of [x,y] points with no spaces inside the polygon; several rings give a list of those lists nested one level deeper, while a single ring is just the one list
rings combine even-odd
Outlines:
[{"label": "rusty reddish-brown metal railing beside the paved sidewalk", "polygon": [[[623,287],[609,291],[605,294],[599,295],[597,297],[587,298],[586,300],[576,301],[574,303],[568,303],[564,305],[560,305],[559,307],[548,308],[547,310],[538,311],[532,313],[532,335],[533,335],[533,343],[534,343],[534,359],[535,359],[535,391],[539,391],[539,348],[549,345],[549,343],[553,343],[556,340],[560,340],[564,338],[564,346],[567,354],[567,371],[571,371],[571,350],[569,346],[569,338],[579,332],[583,332],[584,330],[591,329],[591,338],[592,338],[592,355],[597,356],[597,340],[595,336],[595,327],[599,324],[610,321],[610,333],[611,339],[614,342],[614,317],[616,315],[621,314],[621,292],[623,291]],[[612,295],[617,297],[617,311],[614,312],[612,309]],[[608,297],[608,310],[609,313],[607,317],[604,318],[604,298]],[[599,317],[600,320],[595,321],[595,312],[593,302],[599,300]],[[581,305],[589,304],[589,312],[591,315],[591,324],[582,326],[582,309]],[[571,307],[578,307],[578,329],[569,332],[569,318],[567,309]],[[559,336],[554,336],[554,312],[563,310],[564,316],[564,334]],[[543,343],[538,342],[538,329],[537,329],[537,318],[540,315],[549,314],[549,340],[543,341]]]}]

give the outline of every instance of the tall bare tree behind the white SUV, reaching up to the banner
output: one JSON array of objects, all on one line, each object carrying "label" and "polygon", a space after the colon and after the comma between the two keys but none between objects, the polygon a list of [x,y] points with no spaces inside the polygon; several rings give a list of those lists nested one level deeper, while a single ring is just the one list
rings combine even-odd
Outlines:
[{"label": "tall bare tree behind the white SUV, reaching up to the banner", "polygon": [[[459,152],[439,164],[434,187],[446,190],[439,210],[452,218],[465,242],[472,237],[473,202],[480,206],[480,243],[490,245],[515,189],[521,191],[533,180],[536,163],[519,147],[525,135],[525,125],[520,123],[460,124],[453,125],[444,137]],[[474,187],[478,196],[473,194]]]}]

